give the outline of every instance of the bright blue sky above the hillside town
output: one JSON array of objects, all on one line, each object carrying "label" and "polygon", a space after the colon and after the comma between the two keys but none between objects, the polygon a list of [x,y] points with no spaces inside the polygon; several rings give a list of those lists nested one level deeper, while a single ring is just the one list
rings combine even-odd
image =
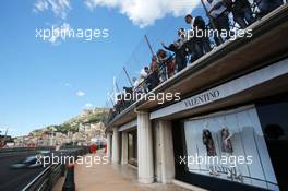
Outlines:
[{"label": "bright blue sky above the hillside town", "polygon": [[[105,106],[113,76],[119,76],[123,64],[136,64],[128,63],[135,48],[141,59],[148,53],[139,48],[145,46],[144,34],[151,35],[156,49],[158,43],[168,44],[176,37],[178,26],[184,26],[172,9],[170,13],[166,10],[151,16],[143,12],[139,16],[133,8],[105,4],[108,1],[87,0],[99,7],[88,7],[81,0],[51,1],[69,2],[71,9],[63,10],[67,15],[60,16],[50,7],[35,11],[37,0],[1,2],[0,128],[10,128],[13,135],[62,123],[87,104]],[[35,37],[36,28],[62,23],[73,28],[108,28],[109,37],[92,41],[67,39],[58,45]],[[132,75],[136,68],[141,67],[131,67]]]}]

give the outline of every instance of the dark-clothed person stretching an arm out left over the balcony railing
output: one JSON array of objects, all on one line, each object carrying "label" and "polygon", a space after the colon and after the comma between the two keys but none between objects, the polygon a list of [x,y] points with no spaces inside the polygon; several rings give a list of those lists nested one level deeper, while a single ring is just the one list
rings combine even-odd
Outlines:
[{"label": "dark-clothed person stretching an arm out left over the balcony railing", "polygon": [[172,63],[171,59],[167,63],[169,77],[175,74],[175,64],[177,67],[178,72],[187,67],[187,59],[185,59],[187,52],[185,52],[185,46],[184,46],[187,38],[185,38],[185,32],[183,28],[178,29],[178,36],[179,36],[179,39],[177,39],[173,44],[169,45],[169,47],[161,44],[166,50],[175,52],[175,63]]}]

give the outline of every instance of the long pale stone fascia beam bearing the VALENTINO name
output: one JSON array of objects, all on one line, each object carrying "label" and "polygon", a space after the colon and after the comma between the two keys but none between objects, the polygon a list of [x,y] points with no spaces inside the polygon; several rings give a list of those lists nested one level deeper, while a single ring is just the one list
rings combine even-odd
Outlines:
[{"label": "long pale stone fascia beam bearing the VALENTINO name", "polygon": [[219,100],[248,88],[267,82],[280,75],[285,75],[288,72],[288,64],[285,61],[280,61],[257,70],[255,72],[249,73],[247,75],[240,76],[227,83],[224,83],[217,87],[205,91],[201,94],[194,95],[187,99],[180,100],[173,105],[160,108],[151,114],[151,119],[156,119],[169,115],[173,115],[183,110],[192,109],[202,105],[209,104],[215,100]]}]

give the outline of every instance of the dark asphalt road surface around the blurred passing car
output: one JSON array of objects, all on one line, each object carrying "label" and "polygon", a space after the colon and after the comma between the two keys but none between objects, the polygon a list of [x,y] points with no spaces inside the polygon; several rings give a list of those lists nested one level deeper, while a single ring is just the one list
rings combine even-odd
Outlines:
[{"label": "dark asphalt road surface around the blurred passing car", "polygon": [[40,174],[44,168],[34,169],[11,169],[10,166],[19,160],[35,154],[11,154],[10,156],[0,156],[0,190],[19,191],[29,181]]}]

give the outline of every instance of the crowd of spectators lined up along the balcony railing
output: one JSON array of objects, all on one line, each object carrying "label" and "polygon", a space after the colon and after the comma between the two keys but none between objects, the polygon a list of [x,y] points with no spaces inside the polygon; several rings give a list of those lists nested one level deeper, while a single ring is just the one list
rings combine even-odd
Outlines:
[{"label": "crowd of spectators lined up along the balcony railing", "polygon": [[[253,3],[249,0],[207,0],[207,2],[206,16],[208,23],[205,23],[205,20],[200,15],[185,15],[184,22],[189,25],[189,28],[179,28],[177,31],[178,39],[172,44],[168,46],[161,44],[163,48],[152,56],[149,65],[141,70],[140,77],[132,79],[132,87],[124,87],[125,93],[145,94],[151,92],[167,79],[183,70],[188,63],[194,62],[209,52],[213,47],[219,46],[229,39],[229,35],[213,35],[213,37],[194,35],[191,37],[188,33],[196,31],[196,33],[209,34],[205,32],[214,29],[218,32],[217,34],[221,34],[223,32],[230,32],[232,27],[244,29],[257,19],[283,4],[283,0],[254,0]],[[110,119],[135,102],[123,99],[121,95],[118,96],[119,98],[111,109]]]}]

